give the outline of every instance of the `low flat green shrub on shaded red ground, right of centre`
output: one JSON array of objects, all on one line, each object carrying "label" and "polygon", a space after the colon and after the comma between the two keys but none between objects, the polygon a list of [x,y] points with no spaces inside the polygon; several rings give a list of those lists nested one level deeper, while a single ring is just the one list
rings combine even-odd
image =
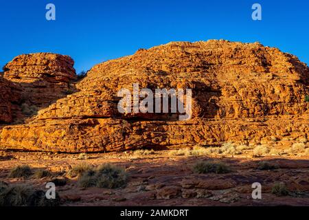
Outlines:
[{"label": "low flat green shrub on shaded red ground, right of centre", "polygon": [[231,169],[227,164],[220,162],[196,162],[193,171],[194,173],[229,173]]}]

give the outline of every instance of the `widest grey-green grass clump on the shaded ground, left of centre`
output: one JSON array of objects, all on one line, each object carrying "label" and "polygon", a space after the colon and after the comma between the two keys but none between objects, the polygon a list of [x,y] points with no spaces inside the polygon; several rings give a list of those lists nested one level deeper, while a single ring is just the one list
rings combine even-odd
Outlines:
[{"label": "widest grey-green grass clump on the shaded ground, left of centre", "polygon": [[87,170],[78,178],[80,187],[121,188],[126,185],[127,174],[124,168],[104,164],[95,170]]}]

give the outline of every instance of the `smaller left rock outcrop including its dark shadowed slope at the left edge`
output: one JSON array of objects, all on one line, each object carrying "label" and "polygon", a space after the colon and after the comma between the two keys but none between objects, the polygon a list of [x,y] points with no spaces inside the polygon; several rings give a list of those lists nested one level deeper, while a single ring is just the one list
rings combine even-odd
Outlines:
[{"label": "smaller left rock outcrop including its dark shadowed slope at the left edge", "polygon": [[[5,65],[1,82],[3,122],[21,122],[75,90],[70,85],[76,79],[73,60],[69,56],[38,53],[17,56]],[[10,86],[8,86],[10,85]],[[13,87],[13,88],[12,88]],[[6,102],[5,102],[6,100]],[[14,102],[8,104],[7,102]]]}]

